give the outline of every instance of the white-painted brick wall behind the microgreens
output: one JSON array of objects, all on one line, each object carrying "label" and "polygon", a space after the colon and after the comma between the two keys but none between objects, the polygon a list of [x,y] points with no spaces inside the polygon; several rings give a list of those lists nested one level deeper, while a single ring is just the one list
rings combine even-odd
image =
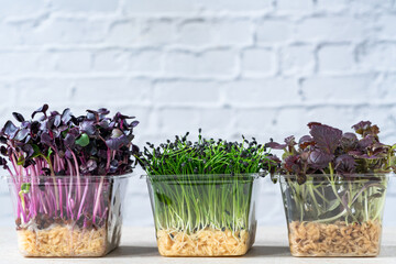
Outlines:
[{"label": "white-painted brick wall behind the microgreens", "polygon": [[[393,143],[395,84],[395,0],[0,0],[1,123],[48,102],[134,114],[141,145],[198,128],[266,142],[362,119]],[[278,186],[264,180],[260,200],[260,223],[284,224]],[[391,187],[386,224],[395,204]],[[125,224],[152,224],[138,177]]]}]

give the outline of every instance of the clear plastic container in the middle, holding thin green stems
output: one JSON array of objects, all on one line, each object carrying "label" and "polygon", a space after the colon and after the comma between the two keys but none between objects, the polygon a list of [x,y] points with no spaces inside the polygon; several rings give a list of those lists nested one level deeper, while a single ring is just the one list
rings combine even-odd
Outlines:
[{"label": "clear plastic container in the middle, holding thin green stems", "polygon": [[146,176],[163,256],[239,256],[256,232],[258,174]]}]

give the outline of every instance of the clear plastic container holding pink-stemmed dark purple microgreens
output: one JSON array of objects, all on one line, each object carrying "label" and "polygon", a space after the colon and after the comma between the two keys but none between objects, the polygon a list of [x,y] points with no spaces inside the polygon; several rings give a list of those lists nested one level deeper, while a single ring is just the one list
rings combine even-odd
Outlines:
[{"label": "clear plastic container holding pink-stemmed dark purple microgreens", "polygon": [[122,176],[9,176],[24,256],[105,256],[121,238]]}]

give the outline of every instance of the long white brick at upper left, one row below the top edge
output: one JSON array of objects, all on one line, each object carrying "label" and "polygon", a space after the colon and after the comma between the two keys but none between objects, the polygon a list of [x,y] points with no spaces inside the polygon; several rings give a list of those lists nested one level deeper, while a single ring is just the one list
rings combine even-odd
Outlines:
[{"label": "long white brick at upper left, one row below the top edge", "polygon": [[21,30],[25,45],[98,43],[105,38],[106,22],[86,19],[48,19]]}]

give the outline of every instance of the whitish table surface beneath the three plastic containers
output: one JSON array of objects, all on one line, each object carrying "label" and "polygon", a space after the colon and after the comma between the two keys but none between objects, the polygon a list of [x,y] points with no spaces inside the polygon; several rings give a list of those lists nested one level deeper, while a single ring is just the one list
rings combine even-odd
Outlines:
[{"label": "whitish table surface beneath the three plastic containers", "polygon": [[285,228],[258,228],[253,249],[240,257],[163,257],[156,249],[154,228],[124,228],[121,246],[100,258],[28,258],[20,255],[13,228],[0,229],[0,264],[23,263],[395,263],[396,229],[385,228],[378,257],[293,257]]}]

